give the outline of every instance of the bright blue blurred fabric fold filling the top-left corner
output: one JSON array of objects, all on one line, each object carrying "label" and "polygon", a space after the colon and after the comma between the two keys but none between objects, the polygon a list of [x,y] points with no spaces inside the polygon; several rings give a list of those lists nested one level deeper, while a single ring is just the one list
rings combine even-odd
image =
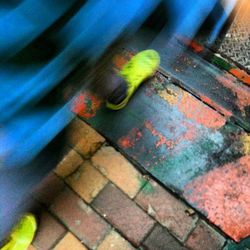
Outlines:
[{"label": "bright blue blurred fabric fold filling the top-left corner", "polygon": [[0,61],[32,42],[74,2],[76,0],[25,0],[14,10],[0,16]]}]

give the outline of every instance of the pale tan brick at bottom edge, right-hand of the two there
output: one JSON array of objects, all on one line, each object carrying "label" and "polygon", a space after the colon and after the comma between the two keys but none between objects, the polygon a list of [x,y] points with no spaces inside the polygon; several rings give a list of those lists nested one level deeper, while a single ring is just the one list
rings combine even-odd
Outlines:
[{"label": "pale tan brick at bottom edge, right-hand of the two there", "polygon": [[111,231],[97,250],[133,250],[134,248],[120,234]]}]

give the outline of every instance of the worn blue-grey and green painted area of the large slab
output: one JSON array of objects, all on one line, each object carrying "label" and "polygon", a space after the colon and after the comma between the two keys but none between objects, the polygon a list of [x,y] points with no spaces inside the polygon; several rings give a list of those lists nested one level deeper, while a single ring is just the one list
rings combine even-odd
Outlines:
[{"label": "worn blue-grey and green painted area of the large slab", "polygon": [[[164,79],[157,74],[127,108],[119,112],[102,108],[91,124],[163,183],[181,192],[190,179],[213,168],[210,156],[222,150],[224,139],[216,131],[220,127],[217,121],[209,128],[186,117],[178,106],[185,91]],[[176,103],[170,104],[157,94],[164,88],[176,96]],[[217,114],[204,103],[200,105],[201,112]],[[218,117],[223,125],[225,119]]]}]

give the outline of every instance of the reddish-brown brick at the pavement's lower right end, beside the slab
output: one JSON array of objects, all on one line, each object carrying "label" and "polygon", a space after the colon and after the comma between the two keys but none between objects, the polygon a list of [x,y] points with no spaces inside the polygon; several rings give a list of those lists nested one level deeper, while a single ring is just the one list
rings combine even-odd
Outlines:
[{"label": "reddish-brown brick at the pavement's lower right end, beside the slab", "polygon": [[192,250],[220,250],[225,239],[204,221],[189,236],[186,245]]}]

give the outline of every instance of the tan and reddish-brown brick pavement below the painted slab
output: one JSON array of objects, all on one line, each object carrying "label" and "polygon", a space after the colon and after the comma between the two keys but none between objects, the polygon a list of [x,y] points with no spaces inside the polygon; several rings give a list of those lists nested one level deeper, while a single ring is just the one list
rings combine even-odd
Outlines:
[{"label": "tan and reddish-brown brick pavement below the painted slab", "polygon": [[69,129],[68,153],[33,194],[42,213],[29,250],[233,249],[86,123]]}]

